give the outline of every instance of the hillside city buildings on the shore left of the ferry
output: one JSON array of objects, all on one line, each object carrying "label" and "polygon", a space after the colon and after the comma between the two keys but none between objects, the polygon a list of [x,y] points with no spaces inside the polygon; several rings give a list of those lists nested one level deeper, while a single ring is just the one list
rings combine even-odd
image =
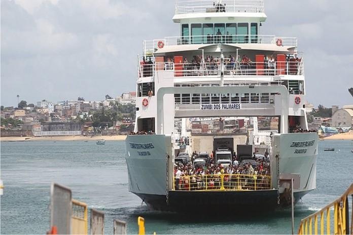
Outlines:
[{"label": "hillside city buildings on the shore left of the ferry", "polygon": [[[112,109],[114,105],[135,105],[136,92],[123,93],[116,98],[108,98],[103,101],[64,100],[51,102],[48,100],[38,101],[37,105],[25,106],[22,109],[17,107],[2,107],[1,136],[59,136],[59,135],[82,135],[111,131],[116,133],[122,126],[132,126],[133,120],[124,119],[118,122],[115,120],[111,130],[107,126],[97,130],[93,122],[83,122],[92,113],[105,108]],[[27,104],[28,105],[28,104]],[[127,113],[125,116],[128,116]],[[21,124],[13,126],[11,123],[3,124],[6,119],[21,121]],[[103,129],[103,130],[101,130]],[[131,128],[130,128],[131,129]],[[130,131],[130,129],[126,131]]]}]

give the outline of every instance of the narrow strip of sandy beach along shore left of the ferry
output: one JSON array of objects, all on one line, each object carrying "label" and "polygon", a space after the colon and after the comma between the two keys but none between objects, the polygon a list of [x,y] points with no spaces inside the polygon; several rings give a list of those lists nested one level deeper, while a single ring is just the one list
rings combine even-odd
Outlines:
[{"label": "narrow strip of sandy beach along shore left of the ferry", "polygon": [[89,140],[125,140],[126,135],[113,136],[46,136],[46,137],[1,137],[1,141],[89,141]]}]

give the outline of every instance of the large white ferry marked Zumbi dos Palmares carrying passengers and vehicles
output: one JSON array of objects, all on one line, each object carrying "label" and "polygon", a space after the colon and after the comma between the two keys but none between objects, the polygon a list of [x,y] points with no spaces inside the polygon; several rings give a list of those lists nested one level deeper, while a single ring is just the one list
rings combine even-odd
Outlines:
[{"label": "large white ferry marked Zumbi dos Palmares carrying passengers and vehicles", "polygon": [[[153,209],[259,211],[289,205],[292,179],[295,202],[315,189],[318,135],[307,131],[304,56],[297,38],[260,34],[266,18],[263,0],[177,0],[180,35],[143,42],[126,163],[129,191]],[[262,116],[277,119],[277,130],[258,131]],[[231,117],[236,122],[224,125]],[[251,117],[253,130],[225,132],[243,125],[239,117]],[[200,133],[190,131],[192,122]],[[181,176],[181,183],[181,152],[227,150],[248,170],[253,163],[241,158],[249,145],[254,157],[267,152],[266,174],[226,174],[214,163],[217,175]]]}]

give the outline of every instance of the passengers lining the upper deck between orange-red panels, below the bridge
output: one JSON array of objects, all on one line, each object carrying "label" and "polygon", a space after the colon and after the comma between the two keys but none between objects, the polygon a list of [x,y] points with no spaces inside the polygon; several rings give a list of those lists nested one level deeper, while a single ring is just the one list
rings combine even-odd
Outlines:
[{"label": "passengers lining the upper deck between orange-red panels, below the bridge", "polygon": [[[299,63],[301,59],[296,57],[293,58],[290,55],[286,56],[286,62],[290,62],[289,73],[296,74],[299,68]],[[219,57],[214,57],[213,55],[206,55],[205,59],[201,55],[194,55],[191,61],[187,57],[183,61],[183,75],[184,76],[195,76],[195,75],[217,75],[219,72],[219,66],[221,59]],[[277,57],[274,55],[265,55],[263,61],[263,73],[265,75],[275,74],[275,64],[277,63]],[[147,62],[145,57],[143,61],[140,62],[143,76],[151,76],[153,69],[153,62],[151,57]],[[164,70],[174,69],[174,58],[165,57]],[[236,60],[234,55],[229,55],[228,58],[224,59],[225,65],[225,75],[232,75],[235,73],[240,73],[243,75],[256,75],[257,68],[256,63],[251,60],[248,55],[244,54],[242,57],[238,55]]]}]

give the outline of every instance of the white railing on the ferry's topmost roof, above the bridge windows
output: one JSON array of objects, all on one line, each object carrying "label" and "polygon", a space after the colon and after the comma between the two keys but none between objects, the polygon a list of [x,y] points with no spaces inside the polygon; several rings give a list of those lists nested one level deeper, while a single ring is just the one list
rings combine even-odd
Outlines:
[{"label": "white railing on the ferry's topmost roof, above the bridge windows", "polygon": [[263,0],[177,0],[175,14],[206,12],[264,12]]}]

